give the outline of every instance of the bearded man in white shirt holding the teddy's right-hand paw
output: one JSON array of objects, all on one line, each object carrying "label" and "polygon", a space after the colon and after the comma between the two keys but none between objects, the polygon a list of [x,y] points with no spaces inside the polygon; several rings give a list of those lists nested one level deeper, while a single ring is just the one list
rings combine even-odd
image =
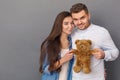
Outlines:
[{"label": "bearded man in white shirt holding the teddy's right-hand paw", "polygon": [[91,58],[91,72],[84,74],[82,71],[79,73],[72,71],[72,80],[105,80],[104,60],[115,60],[119,54],[118,49],[105,28],[90,22],[90,14],[86,5],[77,3],[71,7],[70,12],[77,27],[71,34],[73,49],[76,48],[77,39],[89,39],[92,41],[92,48],[98,51],[93,53]]}]

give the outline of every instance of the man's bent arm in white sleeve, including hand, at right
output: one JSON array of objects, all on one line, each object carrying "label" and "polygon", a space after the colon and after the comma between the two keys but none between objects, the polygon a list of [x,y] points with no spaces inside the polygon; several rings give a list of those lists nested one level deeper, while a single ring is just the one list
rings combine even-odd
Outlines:
[{"label": "man's bent arm in white sleeve, including hand, at right", "polygon": [[98,52],[93,53],[97,59],[105,59],[106,61],[113,61],[119,55],[119,50],[115,46],[109,32],[105,29],[102,33],[100,48]]}]

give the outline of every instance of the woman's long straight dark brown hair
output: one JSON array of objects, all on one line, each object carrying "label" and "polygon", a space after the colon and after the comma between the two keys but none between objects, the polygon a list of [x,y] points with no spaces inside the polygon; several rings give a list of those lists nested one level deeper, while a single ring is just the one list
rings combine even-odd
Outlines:
[{"label": "woman's long straight dark brown hair", "polygon": [[[61,49],[60,35],[62,33],[63,20],[64,18],[69,17],[69,16],[71,16],[71,14],[67,11],[63,11],[59,13],[55,19],[51,33],[41,44],[40,72],[43,71],[42,70],[43,63],[44,63],[46,56],[47,56],[47,62],[49,62],[49,68],[48,68],[49,71],[55,70],[54,64],[59,59],[59,53]],[[58,68],[56,71],[59,72],[60,68]]]}]

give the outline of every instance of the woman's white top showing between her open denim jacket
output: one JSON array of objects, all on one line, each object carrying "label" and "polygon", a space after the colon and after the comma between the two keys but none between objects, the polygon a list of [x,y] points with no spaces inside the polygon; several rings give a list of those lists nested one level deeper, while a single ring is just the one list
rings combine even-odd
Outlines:
[{"label": "woman's white top showing between her open denim jacket", "polygon": [[[69,49],[61,49],[61,57],[63,57],[68,51]],[[62,68],[59,74],[59,80],[67,80],[67,70],[68,70],[68,62],[62,65]]]}]

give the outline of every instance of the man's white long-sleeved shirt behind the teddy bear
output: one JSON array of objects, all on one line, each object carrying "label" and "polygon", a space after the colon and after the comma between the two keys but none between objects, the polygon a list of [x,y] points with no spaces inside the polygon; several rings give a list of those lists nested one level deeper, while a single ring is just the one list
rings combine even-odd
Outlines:
[{"label": "man's white long-sleeved shirt behind the teddy bear", "polygon": [[91,24],[85,30],[75,29],[71,36],[73,49],[76,49],[75,41],[77,39],[90,39],[92,41],[92,48],[100,48],[105,52],[104,59],[96,59],[92,56],[91,73],[84,74],[82,71],[75,73],[72,70],[72,80],[105,80],[104,60],[113,61],[118,57],[119,54],[119,51],[111,39],[109,32],[103,27]]}]

